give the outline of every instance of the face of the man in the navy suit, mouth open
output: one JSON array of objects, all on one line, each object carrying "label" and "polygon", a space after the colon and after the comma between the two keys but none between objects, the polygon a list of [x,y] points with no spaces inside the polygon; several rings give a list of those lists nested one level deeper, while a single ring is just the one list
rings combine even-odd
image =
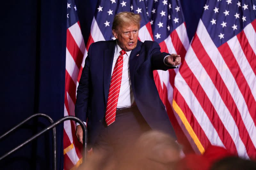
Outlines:
[{"label": "face of the man in the navy suit, mouth open", "polygon": [[138,25],[132,24],[128,26],[118,26],[116,30],[112,30],[117,44],[124,50],[130,51],[137,46],[139,28]]}]

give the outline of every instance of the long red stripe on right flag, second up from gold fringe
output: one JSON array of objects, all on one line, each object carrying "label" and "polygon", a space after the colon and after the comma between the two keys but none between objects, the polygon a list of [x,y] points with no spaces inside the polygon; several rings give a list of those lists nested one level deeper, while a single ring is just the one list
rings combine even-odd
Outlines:
[{"label": "long red stripe on right flag, second up from gold fringe", "polygon": [[188,64],[186,61],[182,63],[182,67],[180,68],[180,74],[183,77],[183,79],[187,82],[191,91],[194,93],[196,99],[202,106],[204,112],[206,113],[207,117],[211,121],[213,127],[216,129],[224,146],[230,149],[231,153],[235,153],[237,155],[236,145],[234,141],[232,140],[227,129],[222,124],[220,117],[218,116],[218,113],[214,109],[210,99],[205,94],[204,89],[196,79],[195,75],[188,67]]}]

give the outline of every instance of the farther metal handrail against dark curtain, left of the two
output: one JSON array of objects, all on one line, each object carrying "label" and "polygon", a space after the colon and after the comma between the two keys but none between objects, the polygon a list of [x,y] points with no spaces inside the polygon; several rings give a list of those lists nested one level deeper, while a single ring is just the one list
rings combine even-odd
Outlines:
[{"label": "farther metal handrail against dark curtain, left of the two", "polygon": [[[51,124],[53,124],[53,120],[50,116],[44,114],[44,113],[36,113],[28,118],[26,118],[25,120],[23,120],[22,122],[20,122],[19,124],[17,124],[16,126],[14,126],[12,129],[10,129],[9,131],[5,132],[3,135],[0,136],[0,140],[2,138],[4,138],[5,136],[7,136],[8,134],[10,134],[11,132],[13,132],[14,130],[16,130],[18,127],[20,127],[21,125],[25,124],[26,122],[28,122],[30,119],[34,118],[34,117],[44,117],[47,120],[49,120],[49,122]],[[56,128],[52,128],[52,143],[53,143],[53,169],[56,170]],[[7,155],[6,155],[7,156]],[[2,158],[2,157],[1,157]],[[1,160],[1,159],[0,159]]]}]

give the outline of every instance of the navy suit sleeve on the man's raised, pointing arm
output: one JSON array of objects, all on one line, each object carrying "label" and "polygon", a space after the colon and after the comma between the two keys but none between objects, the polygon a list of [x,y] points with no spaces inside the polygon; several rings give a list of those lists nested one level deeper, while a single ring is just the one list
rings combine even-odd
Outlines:
[{"label": "navy suit sleeve on the man's raised, pointing arm", "polygon": [[171,55],[169,53],[161,53],[160,46],[157,42],[153,41],[153,44],[150,49],[151,55],[151,66],[153,70],[168,70],[170,68],[176,68],[174,66],[167,66],[164,64],[164,57]]}]

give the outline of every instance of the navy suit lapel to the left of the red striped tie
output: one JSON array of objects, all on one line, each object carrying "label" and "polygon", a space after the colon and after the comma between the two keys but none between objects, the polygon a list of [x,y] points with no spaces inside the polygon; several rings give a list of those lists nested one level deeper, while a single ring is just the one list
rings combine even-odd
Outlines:
[{"label": "navy suit lapel to the left of the red striped tie", "polygon": [[104,74],[103,74],[103,85],[104,85],[104,95],[105,95],[105,107],[107,106],[108,91],[111,80],[111,70],[114,60],[116,41],[109,41],[108,49],[104,50]]}]

